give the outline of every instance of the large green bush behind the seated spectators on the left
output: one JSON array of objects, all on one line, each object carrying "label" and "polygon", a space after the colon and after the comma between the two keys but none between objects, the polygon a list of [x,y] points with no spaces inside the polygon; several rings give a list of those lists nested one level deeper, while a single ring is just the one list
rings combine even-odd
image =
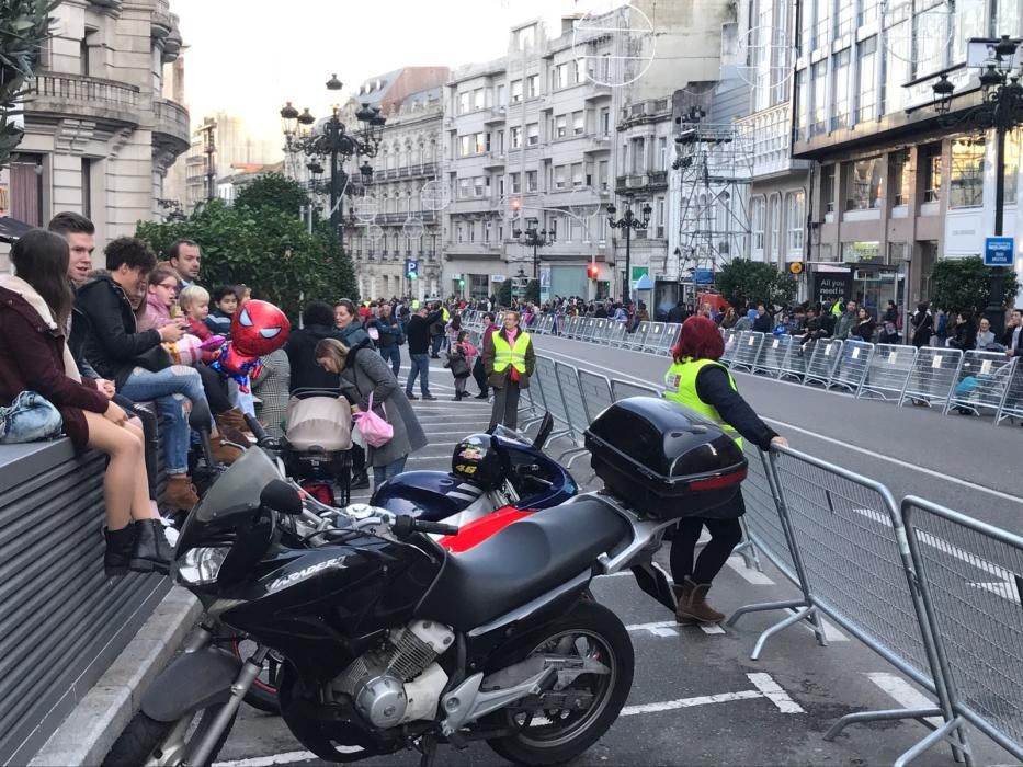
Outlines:
[{"label": "large green bush behind the seated spectators on the left", "polygon": [[139,221],[136,234],[158,253],[174,240],[195,240],[203,251],[200,283],[245,283],[254,298],[276,304],[291,318],[303,300],[359,300],[352,263],[329,225],[309,234],[294,213],[213,201],[183,221]]}]

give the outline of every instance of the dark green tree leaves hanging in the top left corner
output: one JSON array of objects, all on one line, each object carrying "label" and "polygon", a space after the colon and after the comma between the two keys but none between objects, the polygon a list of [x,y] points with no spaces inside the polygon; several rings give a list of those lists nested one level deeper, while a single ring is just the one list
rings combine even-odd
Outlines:
[{"label": "dark green tree leaves hanging in the top left corner", "polygon": [[21,142],[23,131],[11,117],[39,64],[43,41],[49,37],[49,13],[57,4],[58,0],[0,2],[0,168]]}]

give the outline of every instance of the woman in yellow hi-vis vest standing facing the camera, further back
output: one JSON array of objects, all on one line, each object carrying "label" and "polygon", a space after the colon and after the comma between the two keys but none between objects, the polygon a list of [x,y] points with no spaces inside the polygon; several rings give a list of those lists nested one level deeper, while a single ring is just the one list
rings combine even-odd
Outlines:
[{"label": "woman in yellow hi-vis vest standing facing the camera, further back", "polygon": [[519,427],[519,392],[530,388],[530,378],[536,367],[533,341],[519,327],[519,312],[504,314],[504,327],[495,330],[490,343],[484,346],[484,370],[487,382],[493,388],[493,410],[490,427],[503,423],[509,428]]}]

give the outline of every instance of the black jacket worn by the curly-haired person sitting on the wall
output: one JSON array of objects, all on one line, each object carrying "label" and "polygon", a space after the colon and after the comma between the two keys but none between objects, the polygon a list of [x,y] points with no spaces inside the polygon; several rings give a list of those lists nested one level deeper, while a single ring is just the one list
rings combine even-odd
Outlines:
[{"label": "black jacket worn by the curly-haired person sitting on the wall", "polygon": [[132,304],[111,277],[78,289],[71,321],[71,353],[84,357],[120,389],[135,369],[135,358],[160,344],[158,330],[138,332]]}]

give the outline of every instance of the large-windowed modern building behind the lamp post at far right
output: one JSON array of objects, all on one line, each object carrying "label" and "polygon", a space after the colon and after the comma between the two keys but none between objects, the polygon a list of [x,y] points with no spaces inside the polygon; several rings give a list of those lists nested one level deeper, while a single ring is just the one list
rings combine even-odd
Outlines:
[{"label": "large-windowed modern building behind the lamp post at far right", "polygon": [[[803,3],[793,157],[819,163],[807,194],[811,298],[844,282],[849,297],[908,311],[928,298],[937,259],[981,254],[993,233],[993,137],[956,124],[981,98],[967,41],[1019,37],[1021,16],[1019,0]],[[955,85],[946,117],[933,105],[940,72]],[[1020,152],[1015,131],[1008,236],[1023,232]]]}]

